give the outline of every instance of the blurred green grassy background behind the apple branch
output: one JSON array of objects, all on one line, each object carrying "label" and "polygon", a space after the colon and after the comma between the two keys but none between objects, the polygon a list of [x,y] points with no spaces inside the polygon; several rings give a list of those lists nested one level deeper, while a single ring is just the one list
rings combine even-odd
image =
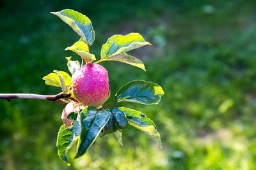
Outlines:
[{"label": "blurred green grassy background behind the apple branch", "polygon": [[[131,52],[147,72],[119,62],[108,69],[111,97],[131,80],[164,89],[156,106],[119,103],[154,120],[163,150],[132,127],[124,146],[113,134],[72,166],[57,155],[64,105],[0,101],[0,169],[256,169],[256,2],[233,1],[0,1],[0,93],[57,94],[42,77],[67,71],[64,51],[79,39],[51,11],[77,10],[96,32],[91,52],[113,34],[140,34],[152,43]],[[111,106],[111,108],[113,107]]]}]

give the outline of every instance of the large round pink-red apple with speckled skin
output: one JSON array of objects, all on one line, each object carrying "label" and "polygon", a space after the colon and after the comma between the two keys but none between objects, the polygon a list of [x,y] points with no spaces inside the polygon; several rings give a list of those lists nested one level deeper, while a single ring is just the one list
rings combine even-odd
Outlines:
[{"label": "large round pink-red apple with speckled skin", "polygon": [[99,64],[86,64],[72,76],[72,91],[84,106],[101,106],[109,97],[108,71]]}]

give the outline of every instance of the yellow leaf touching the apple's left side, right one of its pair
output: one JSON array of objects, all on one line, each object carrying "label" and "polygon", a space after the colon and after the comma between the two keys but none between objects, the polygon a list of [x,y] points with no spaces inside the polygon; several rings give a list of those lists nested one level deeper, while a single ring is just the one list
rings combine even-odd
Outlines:
[{"label": "yellow leaf touching the apple's left side, right one of its pair", "polygon": [[59,80],[60,80],[60,86],[64,93],[68,92],[68,87],[71,85],[72,78],[70,75],[64,71],[57,71],[54,70],[54,73],[57,74]]}]

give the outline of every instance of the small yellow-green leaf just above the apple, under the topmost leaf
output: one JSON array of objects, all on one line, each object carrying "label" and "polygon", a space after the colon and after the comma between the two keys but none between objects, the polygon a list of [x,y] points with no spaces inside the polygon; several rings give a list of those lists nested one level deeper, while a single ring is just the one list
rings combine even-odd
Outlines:
[{"label": "small yellow-green leaf just above the apple, under the topmost leaf", "polygon": [[82,57],[82,59],[92,62],[96,60],[95,56],[89,52],[89,47],[83,41],[77,41],[74,45],[67,47],[65,50],[71,50]]}]

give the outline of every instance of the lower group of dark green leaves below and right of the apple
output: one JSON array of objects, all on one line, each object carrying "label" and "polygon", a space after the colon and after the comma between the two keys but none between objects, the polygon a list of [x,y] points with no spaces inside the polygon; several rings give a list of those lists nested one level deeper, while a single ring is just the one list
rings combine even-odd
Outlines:
[{"label": "lower group of dark green leaves below and right of the apple", "polygon": [[[127,83],[116,92],[113,103],[128,101],[141,104],[157,104],[163,94],[163,89],[156,83],[135,80]],[[131,108],[119,107],[112,110],[100,108],[97,110],[92,106],[86,106],[78,114],[70,113],[68,118],[74,119],[72,129],[62,125],[57,139],[58,155],[67,164],[66,153],[74,143],[77,145],[77,153],[74,157],[76,159],[92,146],[100,133],[101,136],[114,133],[120,145],[123,145],[122,129],[125,129],[128,125],[145,132],[162,148],[156,124],[150,118],[147,118],[144,113]],[[68,137],[67,132],[69,132]]]}]

